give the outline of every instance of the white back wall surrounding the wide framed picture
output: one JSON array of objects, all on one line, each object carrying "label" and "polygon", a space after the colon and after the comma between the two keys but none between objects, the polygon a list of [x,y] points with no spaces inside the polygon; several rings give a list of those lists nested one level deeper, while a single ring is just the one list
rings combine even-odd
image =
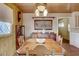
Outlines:
[{"label": "white back wall surrounding the wide framed picture", "polygon": [[[25,36],[28,37],[32,32],[36,32],[37,30],[34,30],[34,19],[32,17],[34,16],[34,13],[24,13],[23,14],[23,23],[25,25]],[[53,20],[53,27],[52,30],[46,30],[46,31],[52,31],[58,33],[58,18],[59,17],[69,17],[70,13],[49,13],[48,16],[56,17]],[[51,20],[51,19],[49,19]],[[41,30],[39,30],[41,31]]]}]

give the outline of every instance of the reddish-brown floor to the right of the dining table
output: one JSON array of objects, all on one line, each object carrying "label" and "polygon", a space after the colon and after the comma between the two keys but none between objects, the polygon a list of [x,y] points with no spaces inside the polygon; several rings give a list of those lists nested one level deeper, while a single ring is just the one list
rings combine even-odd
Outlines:
[{"label": "reddish-brown floor to the right of the dining table", "polygon": [[63,43],[63,47],[66,50],[66,56],[79,56],[79,48],[76,48],[68,43]]}]

